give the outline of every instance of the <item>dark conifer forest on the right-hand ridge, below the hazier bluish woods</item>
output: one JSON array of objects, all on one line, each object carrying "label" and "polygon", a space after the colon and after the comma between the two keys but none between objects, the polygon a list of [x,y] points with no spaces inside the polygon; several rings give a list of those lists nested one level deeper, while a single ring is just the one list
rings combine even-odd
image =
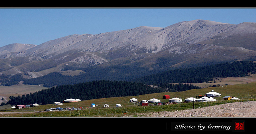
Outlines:
[{"label": "dark conifer forest on the right-hand ridge, below the hazier bluish woods", "polygon": [[148,75],[133,81],[158,85],[161,83],[202,83],[212,81],[215,77],[244,77],[247,73],[255,73],[256,63],[252,61],[236,61],[205,67],[180,68],[163,73]]}]

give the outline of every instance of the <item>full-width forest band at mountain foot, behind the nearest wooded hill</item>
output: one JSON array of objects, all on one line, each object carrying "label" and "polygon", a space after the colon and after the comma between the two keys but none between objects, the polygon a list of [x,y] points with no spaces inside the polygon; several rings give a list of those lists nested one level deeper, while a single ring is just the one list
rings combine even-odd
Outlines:
[{"label": "full-width forest band at mountain foot, behind the nearest wooded hill", "polygon": [[[255,73],[256,63],[251,61],[236,61],[232,63],[220,63],[204,67],[179,68],[169,71],[148,71],[143,67],[115,66],[115,67],[92,67],[79,68],[85,73],[70,76],[53,72],[42,77],[22,79],[21,74],[12,77],[2,76],[2,85],[44,84],[45,87],[54,85],[84,83],[93,80],[116,80],[116,81],[137,81],[144,84],[157,85],[160,83],[202,83],[212,81],[215,77],[242,77],[245,74]],[[72,68],[66,68],[72,69]],[[74,70],[78,68],[73,68]],[[11,80],[8,80],[11,78]]]}]

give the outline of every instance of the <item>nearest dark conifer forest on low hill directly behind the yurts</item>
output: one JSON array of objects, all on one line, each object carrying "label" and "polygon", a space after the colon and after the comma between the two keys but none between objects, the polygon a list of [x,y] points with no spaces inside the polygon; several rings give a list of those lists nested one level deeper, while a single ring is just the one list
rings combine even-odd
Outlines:
[{"label": "nearest dark conifer forest on low hill directly behind the yurts", "polygon": [[56,101],[62,102],[68,98],[89,100],[108,97],[136,96],[158,92],[164,92],[164,90],[137,82],[103,80],[74,85],[60,85],[22,96],[11,96],[7,104],[52,104]]}]

